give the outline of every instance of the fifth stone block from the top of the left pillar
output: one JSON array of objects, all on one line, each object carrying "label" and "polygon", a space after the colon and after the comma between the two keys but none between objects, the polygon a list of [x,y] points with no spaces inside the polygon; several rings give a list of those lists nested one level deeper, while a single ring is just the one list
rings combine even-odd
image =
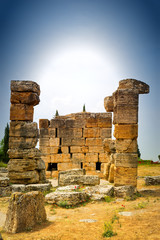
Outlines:
[{"label": "fifth stone block from the top of the left pillar", "polygon": [[35,148],[38,138],[9,137],[9,148]]}]

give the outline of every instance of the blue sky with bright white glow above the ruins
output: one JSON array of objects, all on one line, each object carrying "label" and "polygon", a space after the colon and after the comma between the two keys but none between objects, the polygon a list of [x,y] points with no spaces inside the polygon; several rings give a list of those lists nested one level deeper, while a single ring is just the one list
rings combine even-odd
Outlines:
[{"label": "blue sky with bright white glow above the ruins", "polygon": [[10,80],[40,84],[34,121],[104,112],[118,82],[150,85],[140,95],[142,158],[160,154],[160,2],[158,0],[1,0],[0,139],[9,122]]}]

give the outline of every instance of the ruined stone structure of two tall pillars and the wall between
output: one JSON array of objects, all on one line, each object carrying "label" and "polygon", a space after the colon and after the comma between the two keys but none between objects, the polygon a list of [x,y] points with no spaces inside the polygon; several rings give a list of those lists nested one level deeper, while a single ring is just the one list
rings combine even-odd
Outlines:
[{"label": "ruined stone structure of two tall pillars and the wall between", "polygon": [[130,192],[130,186],[137,185],[139,94],[148,92],[144,82],[121,80],[112,96],[104,99],[106,113],[81,112],[40,119],[38,130],[33,107],[39,103],[39,85],[11,81],[10,182],[43,183],[46,176],[58,178],[61,171],[84,169],[86,176],[97,175],[120,187],[117,192],[123,193],[122,186]]}]

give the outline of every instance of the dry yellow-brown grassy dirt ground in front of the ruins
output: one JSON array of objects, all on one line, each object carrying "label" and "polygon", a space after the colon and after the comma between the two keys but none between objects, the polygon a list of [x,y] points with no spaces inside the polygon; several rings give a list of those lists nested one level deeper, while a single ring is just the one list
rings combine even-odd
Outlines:
[{"label": "dry yellow-brown grassy dirt ground in front of the ruins", "polygon": [[[1,235],[4,240],[104,240],[102,234],[106,223],[117,234],[112,237],[113,240],[159,240],[160,186],[145,186],[144,176],[147,175],[160,175],[160,166],[138,167],[138,190],[142,196],[134,201],[113,199],[109,203],[89,202],[74,209],[55,208],[47,204],[46,223],[18,234],[5,233],[0,223]],[[2,222],[8,200],[9,198],[0,198]],[[83,222],[86,219],[91,219],[92,222]]]}]

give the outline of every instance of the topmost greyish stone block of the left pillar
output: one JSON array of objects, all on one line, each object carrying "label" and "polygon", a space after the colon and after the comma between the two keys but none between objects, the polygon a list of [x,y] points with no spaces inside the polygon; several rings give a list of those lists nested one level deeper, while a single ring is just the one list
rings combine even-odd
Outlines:
[{"label": "topmost greyish stone block of the left pillar", "polygon": [[33,81],[11,81],[12,92],[34,92],[40,95],[40,87],[36,82]]}]

